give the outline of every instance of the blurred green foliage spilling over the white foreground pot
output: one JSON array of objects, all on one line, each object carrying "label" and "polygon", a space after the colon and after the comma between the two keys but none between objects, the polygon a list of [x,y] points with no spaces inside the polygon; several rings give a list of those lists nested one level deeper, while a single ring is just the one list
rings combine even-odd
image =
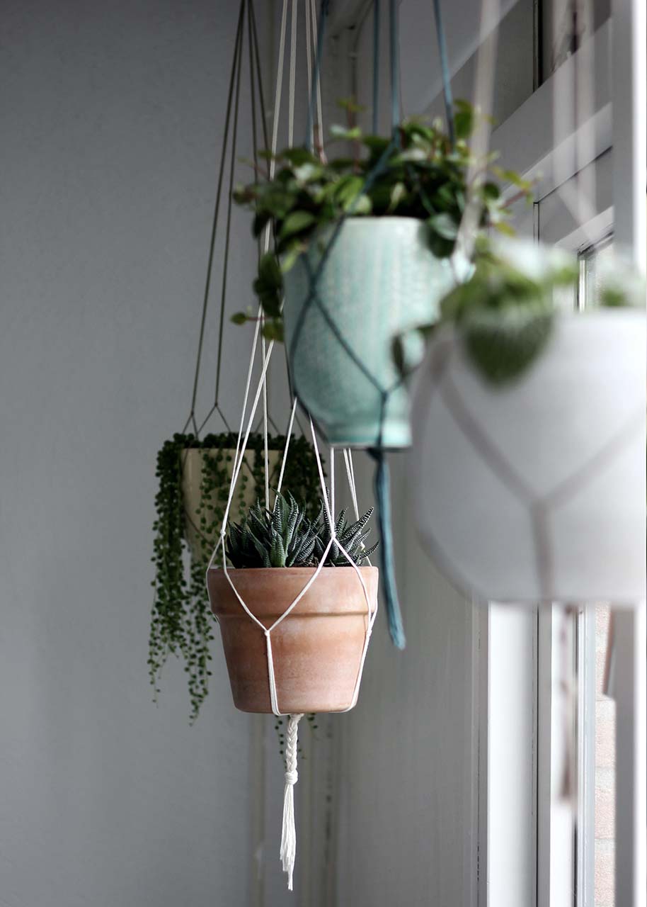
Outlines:
[{"label": "blurred green foliage spilling over the white foreground pot", "polygon": [[[471,277],[440,302],[439,318],[423,325],[429,336],[453,327],[472,365],[490,385],[515,381],[541,355],[558,312],[560,291],[573,298],[579,278],[575,255],[529,239],[479,237]],[[602,307],[644,305],[644,283],[632,268],[616,261],[601,275]],[[393,355],[406,373],[403,338],[396,337]]]}]

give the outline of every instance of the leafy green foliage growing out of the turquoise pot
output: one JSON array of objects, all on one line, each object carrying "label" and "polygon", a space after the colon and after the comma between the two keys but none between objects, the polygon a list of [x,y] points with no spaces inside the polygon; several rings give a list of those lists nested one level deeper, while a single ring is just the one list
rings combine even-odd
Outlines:
[{"label": "leafy green foliage growing out of the turquoise pot", "polygon": [[[344,143],[343,155],[326,159],[303,147],[287,148],[274,156],[273,179],[261,174],[237,187],[234,199],[254,211],[254,235],[271,224],[275,236],[275,252],[261,258],[254,282],[266,336],[283,337],[282,274],[293,267],[317,230],[344,217],[421,220],[428,228],[430,253],[437,258],[454,251],[468,196],[478,206],[480,226],[511,231],[509,201],[501,186],[513,183],[527,197],[530,183],[497,167],[496,154],[475,157],[468,138],[476,122],[471,105],[456,102],[453,145],[438,120],[402,122],[396,141],[365,135],[358,126],[333,126],[333,141]],[[266,153],[267,159],[272,157]],[[232,320],[242,324],[253,317],[238,312]]]}]

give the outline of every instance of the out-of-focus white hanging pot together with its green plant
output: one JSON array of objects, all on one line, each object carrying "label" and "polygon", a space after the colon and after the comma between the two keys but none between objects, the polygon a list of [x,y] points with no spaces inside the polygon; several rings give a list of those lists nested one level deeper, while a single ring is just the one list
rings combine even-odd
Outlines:
[{"label": "out-of-focus white hanging pot together with its green plant", "polygon": [[561,249],[481,240],[422,332],[416,521],[479,600],[644,595],[644,284],[615,260],[597,306],[566,314],[555,295],[575,298],[578,271]]}]

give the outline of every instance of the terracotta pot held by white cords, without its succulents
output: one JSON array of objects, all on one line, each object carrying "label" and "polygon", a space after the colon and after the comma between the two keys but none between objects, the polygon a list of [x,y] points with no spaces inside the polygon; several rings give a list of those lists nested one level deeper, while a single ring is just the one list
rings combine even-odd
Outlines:
[{"label": "terracotta pot held by white cords, without its succulents", "polygon": [[[377,607],[378,570],[361,567]],[[314,573],[310,567],[228,571],[240,597],[269,628]],[[234,704],[243,712],[271,712],[266,636],[243,610],[224,571],[208,571],[211,608],[220,622]],[[271,633],[281,712],[339,712],[353,696],[368,609],[352,567],[324,567],[295,609]]]}]

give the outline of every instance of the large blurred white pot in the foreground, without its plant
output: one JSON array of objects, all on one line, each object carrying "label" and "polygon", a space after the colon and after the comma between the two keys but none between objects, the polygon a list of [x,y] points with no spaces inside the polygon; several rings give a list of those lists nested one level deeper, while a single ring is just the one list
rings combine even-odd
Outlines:
[{"label": "large blurred white pot in the foreground, without its plant", "polygon": [[533,604],[644,598],[644,313],[556,318],[504,387],[439,332],[412,430],[420,536],[460,589]]}]

